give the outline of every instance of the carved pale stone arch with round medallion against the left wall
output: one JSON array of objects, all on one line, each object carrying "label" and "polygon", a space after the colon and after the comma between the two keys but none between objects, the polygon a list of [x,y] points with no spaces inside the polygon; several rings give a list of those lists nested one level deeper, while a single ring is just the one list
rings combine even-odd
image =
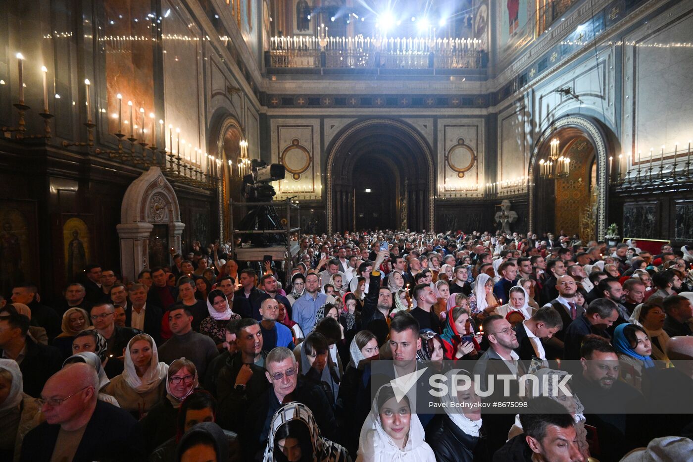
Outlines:
[{"label": "carved pale stone arch with round medallion against the left wall", "polygon": [[[167,247],[181,250],[185,229],[180,221],[178,198],[161,169],[152,166],[125,191],[121,223],[116,226],[121,244],[121,272],[135,280],[137,273],[150,266],[150,237],[155,225],[165,225]],[[168,255],[168,248],[166,255]]]}]

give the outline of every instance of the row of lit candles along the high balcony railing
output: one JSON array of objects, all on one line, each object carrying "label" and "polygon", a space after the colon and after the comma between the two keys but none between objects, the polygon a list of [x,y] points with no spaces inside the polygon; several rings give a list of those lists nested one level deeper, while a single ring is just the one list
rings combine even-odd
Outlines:
[{"label": "row of lit candles along the high balcony railing", "polygon": [[[273,51],[276,50],[317,50],[327,49],[371,49],[381,46],[387,51],[396,53],[416,53],[457,49],[459,51],[477,51],[480,49],[480,40],[464,38],[438,38],[428,40],[419,37],[390,37],[390,38],[371,38],[363,37],[271,37],[270,45]],[[434,50],[431,50],[434,49]]]}]

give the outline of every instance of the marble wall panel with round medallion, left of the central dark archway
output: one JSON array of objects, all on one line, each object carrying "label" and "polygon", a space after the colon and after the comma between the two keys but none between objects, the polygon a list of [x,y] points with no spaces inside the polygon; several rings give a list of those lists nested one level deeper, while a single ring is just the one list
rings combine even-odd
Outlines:
[{"label": "marble wall panel with round medallion, left of the central dark archway", "polygon": [[277,198],[322,198],[322,164],[319,119],[272,119],[272,162],[283,164],[286,177],[279,181]]}]

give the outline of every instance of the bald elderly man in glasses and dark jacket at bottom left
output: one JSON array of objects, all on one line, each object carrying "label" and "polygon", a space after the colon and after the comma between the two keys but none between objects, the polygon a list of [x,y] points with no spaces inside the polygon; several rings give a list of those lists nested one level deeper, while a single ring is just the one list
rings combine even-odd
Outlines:
[{"label": "bald elderly man in glasses and dark jacket at bottom left", "polygon": [[21,445],[21,461],[128,460],[135,456],[130,413],[97,400],[96,370],[76,363],[51,377],[41,393],[46,421]]}]

